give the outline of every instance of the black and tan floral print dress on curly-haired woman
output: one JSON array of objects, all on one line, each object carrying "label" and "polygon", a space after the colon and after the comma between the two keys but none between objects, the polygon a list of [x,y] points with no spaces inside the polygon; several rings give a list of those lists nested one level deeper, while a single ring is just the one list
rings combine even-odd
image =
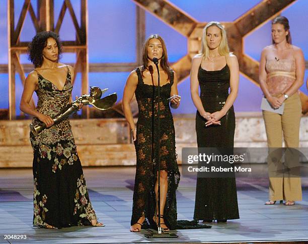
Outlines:
[{"label": "black and tan floral print dress on curly-haired woman", "polygon": [[[37,72],[38,73],[38,72]],[[51,117],[69,104],[72,85],[67,68],[62,90],[38,73],[37,111]],[[34,118],[34,124],[40,121]],[[97,219],[89,200],[83,169],[69,120],[43,130],[37,137],[30,132],[33,148],[33,225],[54,227],[89,225]]]}]

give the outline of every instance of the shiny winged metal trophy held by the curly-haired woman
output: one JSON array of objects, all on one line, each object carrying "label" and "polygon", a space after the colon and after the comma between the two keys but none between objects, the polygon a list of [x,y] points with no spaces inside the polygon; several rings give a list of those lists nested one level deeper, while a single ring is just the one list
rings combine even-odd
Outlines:
[{"label": "shiny winged metal trophy held by the curly-haired woman", "polygon": [[[117,94],[113,93],[105,98],[101,98],[102,95],[108,90],[108,88],[101,90],[99,87],[90,87],[89,95],[82,95],[72,103],[68,104],[59,114],[52,118],[54,124],[58,124],[62,120],[66,119],[69,115],[78,111],[79,104],[92,105],[99,110],[110,109],[117,101]],[[45,123],[39,123],[34,125],[30,124],[30,130],[34,136],[37,136],[42,130],[46,129]]]}]

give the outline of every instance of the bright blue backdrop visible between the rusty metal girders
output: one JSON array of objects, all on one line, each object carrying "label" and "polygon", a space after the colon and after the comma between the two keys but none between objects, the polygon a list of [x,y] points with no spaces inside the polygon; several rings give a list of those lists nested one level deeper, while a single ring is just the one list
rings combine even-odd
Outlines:
[{"label": "bright blue backdrop visible between the rusty metal girders", "polygon": [[[0,63],[8,63],[7,44],[7,0],[0,0]],[[15,23],[24,1],[15,1]],[[37,0],[31,0],[36,6]],[[200,22],[208,21],[234,21],[249,9],[257,5],[259,0],[171,0],[174,5],[188,13],[191,17]],[[55,18],[59,15],[63,0],[55,0]],[[71,0],[77,19],[80,18],[80,0]],[[136,61],[136,17],[135,4],[131,0],[88,0],[89,7],[89,60],[95,62],[135,62]],[[290,21],[290,30],[293,44],[302,48],[305,59],[308,59],[308,31],[306,28],[306,10],[308,1],[297,0],[294,4],[284,10],[281,15],[286,16]],[[35,10],[36,11],[36,10]],[[145,15],[146,36],[159,33],[166,41],[169,60],[177,61],[187,53],[187,39],[177,31],[152,16]],[[22,41],[30,41],[35,35],[35,30],[29,14],[21,33]],[[60,29],[62,40],[73,40],[75,32],[72,28],[72,21],[68,13],[65,14]],[[250,33],[245,38],[245,52],[252,58],[259,60],[261,50],[271,44],[270,21],[262,27]],[[75,54],[64,53],[61,62],[73,62]],[[22,63],[29,63],[27,55],[21,56]],[[128,72],[101,72],[89,73],[91,86],[108,87],[110,91],[116,92],[119,99],[122,98]],[[308,71],[305,71],[305,79]],[[80,95],[81,76],[76,77],[73,89],[73,96]],[[16,76],[16,109],[19,111],[19,100],[22,94],[22,84],[19,76]],[[300,89],[307,94],[305,85]],[[182,102],[179,109],[174,110],[177,114],[195,113],[195,108],[190,98],[189,78],[186,78],[179,85],[179,93]],[[8,74],[0,74],[0,108],[8,108]],[[35,97],[35,95],[34,95]],[[260,111],[262,92],[250,80],[241,75],[239,96],[235,102],[237,112]],[[36,99],[35,99],[36,100]],[[249,101],[249,102],[248,102]]]}]

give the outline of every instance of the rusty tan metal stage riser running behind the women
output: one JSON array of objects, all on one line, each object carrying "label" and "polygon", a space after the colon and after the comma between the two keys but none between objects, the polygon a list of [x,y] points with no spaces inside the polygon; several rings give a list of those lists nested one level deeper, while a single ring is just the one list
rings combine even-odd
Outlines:
[{"label": "rusty tan metal stage riser running behind the women", "polygon": [[[196,146],[194,116],[175,117],[178,162],[183,147]],[[0,121],[0,168],[32,167],[29,140],[30,120]],[[236,147],[266,147],[261,116],[237,115]],[[71,120],[72,131],[83,166],[135,165],[134,145],[124,119]],[[308,147],[308,117],[302,117],[300,146]]]}]

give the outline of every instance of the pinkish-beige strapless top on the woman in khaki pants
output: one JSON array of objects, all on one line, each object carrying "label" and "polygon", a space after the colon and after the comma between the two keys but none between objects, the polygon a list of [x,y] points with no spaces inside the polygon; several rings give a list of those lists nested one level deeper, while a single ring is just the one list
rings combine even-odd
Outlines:
[{"label": "pinkish-beige strapless top on the woman in khaki pants", "polygon": [[265,68],[268,91],[274,97],[284,94],[296,79],[294,59],[266,60]]}]

